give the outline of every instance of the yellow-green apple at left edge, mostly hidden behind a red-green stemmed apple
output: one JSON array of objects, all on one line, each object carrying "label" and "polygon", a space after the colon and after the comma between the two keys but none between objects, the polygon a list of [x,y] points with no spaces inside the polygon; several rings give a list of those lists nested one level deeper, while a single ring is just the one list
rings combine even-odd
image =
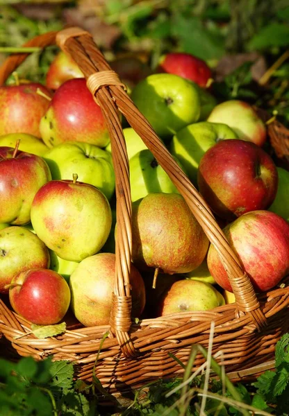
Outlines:
[{"label": "yellow-green apple at left edge, mostly hidden behind a red-green stemmed apple", "polygon": [[41,139],[26,133],[9,133],[0,137],[0,146],[15,148],[17,140],[20,140],[19,150],[32,153],[33,155],[43,156],[48,147],[45,146]]}]

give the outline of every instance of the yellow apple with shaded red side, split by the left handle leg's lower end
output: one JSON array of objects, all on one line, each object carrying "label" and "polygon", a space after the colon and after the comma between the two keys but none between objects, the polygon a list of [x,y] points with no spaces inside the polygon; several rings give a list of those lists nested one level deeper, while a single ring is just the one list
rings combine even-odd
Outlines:
[{"label": "yellow apple with shaded red side, split by the left handle leg's lower end", "polygon": [[[131,264],[132,316],[138,318],[145,308],[145,284]],[[70,276],[72,310],[85,327],[108,325],[115,287],[115,254],[99,253],[87,257]]]}]

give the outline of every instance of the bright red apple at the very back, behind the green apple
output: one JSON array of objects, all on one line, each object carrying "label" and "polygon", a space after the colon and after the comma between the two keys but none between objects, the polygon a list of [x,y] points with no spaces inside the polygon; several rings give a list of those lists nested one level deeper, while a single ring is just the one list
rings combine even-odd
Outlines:
[{"label": "bright red apple at the very back, behind the green apple", "polygon": [[162,55],[156,69],[158,72],[174,73],[206,87],[212,72],[204,60],[190,53],[170,52]]}]

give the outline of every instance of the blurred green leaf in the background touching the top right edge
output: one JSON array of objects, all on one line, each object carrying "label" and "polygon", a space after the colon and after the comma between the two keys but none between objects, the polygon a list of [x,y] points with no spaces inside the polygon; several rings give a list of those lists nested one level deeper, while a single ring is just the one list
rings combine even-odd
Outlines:
[{"label": "blurred green leaf in the background touching the top right edge", "polygon": [[289,26],[273,22],[263,27],[249,41],[248,47],[251,50],[267,49],[269,46],[289,45]]}]

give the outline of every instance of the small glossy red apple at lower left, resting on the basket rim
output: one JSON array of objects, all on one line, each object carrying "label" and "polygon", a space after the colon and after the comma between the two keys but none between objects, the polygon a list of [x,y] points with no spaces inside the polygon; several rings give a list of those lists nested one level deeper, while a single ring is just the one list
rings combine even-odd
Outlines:
[{"label": "small glossy red apple at lower left, resting on the basket rim", "polygon": [[70,290],[65,279],[53,270],[33,268],[13,278],[9,300],[14,311],[33,324],[52,325],[67,312]]}]

